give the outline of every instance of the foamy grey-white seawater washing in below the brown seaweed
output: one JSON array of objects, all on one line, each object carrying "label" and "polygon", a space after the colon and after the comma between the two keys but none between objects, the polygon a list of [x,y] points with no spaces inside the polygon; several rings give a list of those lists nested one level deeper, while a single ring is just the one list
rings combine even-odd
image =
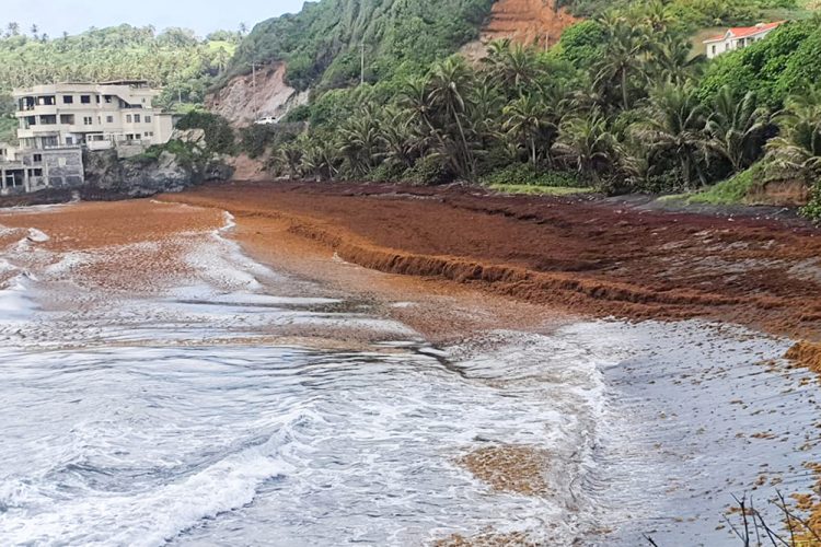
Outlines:
[{"label": "foamy grey-white seawater washing in below the brown seaweed", "polygon": [[[188,237],[197,274],[140,296],[77,282],[102,251],[55,256],[48,234],[19,235],[0,253],[0,545],[511,532],[736,545],[718,526],[762,464],[767,485],[812,482],[817,387],[761,364],[785,340],[589,322],[435,348],[368,302],[252,261],[223,232]],[[775,440],[751,437],[767,429]],[[550,454],[546,493],[494,490],[458,462],[505,445]]]}]

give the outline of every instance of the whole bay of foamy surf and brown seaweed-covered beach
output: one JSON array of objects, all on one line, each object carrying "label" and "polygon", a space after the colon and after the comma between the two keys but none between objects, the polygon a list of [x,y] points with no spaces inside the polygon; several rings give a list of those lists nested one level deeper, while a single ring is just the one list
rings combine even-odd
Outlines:
[{"label": "whole bay of foamy surf and brown seaweed-covered beach", "polygon": [[809,226],[251,183],[0,226],[5,544],[737,545],[733,494],[816,499]]}]

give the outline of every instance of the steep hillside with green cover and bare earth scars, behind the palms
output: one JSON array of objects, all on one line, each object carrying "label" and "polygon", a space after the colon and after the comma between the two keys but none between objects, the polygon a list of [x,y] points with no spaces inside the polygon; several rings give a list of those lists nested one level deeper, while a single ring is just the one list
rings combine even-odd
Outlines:
[{"label": "steep hillside with green cover and bare earth scars, behind the palms", "polygon": [[[339,14],[343,16],[339,16]],[[314,90],[395,89],[455,51],[478,58],[492,40],[554,45],[578,22],[552,0],[323,0],[256,25],[208,107],[234,125],[280,118]],[[362,71],[362,56],[365,70]],[[251,78],[257,69],[256,91]],[[390,93],[388,93],[390,94]],[[254,96],[256,95],[256,96]]]}]

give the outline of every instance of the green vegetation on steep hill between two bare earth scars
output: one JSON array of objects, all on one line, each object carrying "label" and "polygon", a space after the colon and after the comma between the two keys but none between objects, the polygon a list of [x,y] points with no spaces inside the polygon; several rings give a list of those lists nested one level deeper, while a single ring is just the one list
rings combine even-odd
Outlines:
[{"label": "green vegetation on steep hill between two bare earth scars", "polygon": [[418,70],[475,39],[492,0],[324,0],[296,15],[254,27],[231,61],[230,74],[252,63],[285,61],[299,90],[333,89]]}]

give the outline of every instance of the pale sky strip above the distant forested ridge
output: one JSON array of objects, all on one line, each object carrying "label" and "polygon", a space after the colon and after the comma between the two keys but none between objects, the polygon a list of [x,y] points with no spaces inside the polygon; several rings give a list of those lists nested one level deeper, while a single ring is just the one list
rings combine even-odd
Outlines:
[{"label": "pale sky strip above the distant forested ridge", "polygon": [[205,36],[217,30],[235,31],[240,23],[252,28],[266,19],[293,13],[303,0],[0,0],[0,28],[16,22],[28,33],[33,24],[49,36],[63,31],[78,34],[90,26],[103,27],[129,23],[193,28]]}]

